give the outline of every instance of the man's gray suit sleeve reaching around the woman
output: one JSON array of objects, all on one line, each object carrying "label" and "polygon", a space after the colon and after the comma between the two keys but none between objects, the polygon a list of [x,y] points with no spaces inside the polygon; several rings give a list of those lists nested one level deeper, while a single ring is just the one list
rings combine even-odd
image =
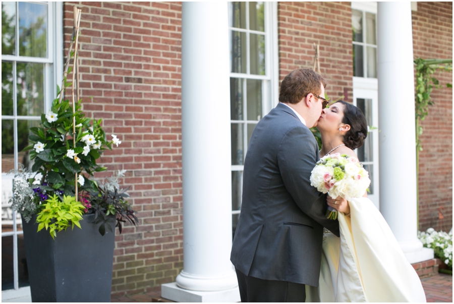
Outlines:
[{"label": "man's gray suit sleeve reaching around the woman", "polygon": [[314,221],[339,236],[338,221],[326,218],[326,196],[311,186],[318,153],[317,142],[305,126],[291,128],[279,145],[277,161],[287,190],[298,207]]}]

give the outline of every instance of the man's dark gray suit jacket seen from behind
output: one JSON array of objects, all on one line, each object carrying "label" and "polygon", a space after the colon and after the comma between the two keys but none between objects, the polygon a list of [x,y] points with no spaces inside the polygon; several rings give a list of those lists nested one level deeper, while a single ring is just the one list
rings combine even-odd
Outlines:
[{"label": "man's dark gray suit jacket seen from behind", "polygon": [[231,261],[247,276],[318,286],[326,196],[310,185],[319,160],[312,132],[286,105],[252,133],[243,175],[241,214]]}]

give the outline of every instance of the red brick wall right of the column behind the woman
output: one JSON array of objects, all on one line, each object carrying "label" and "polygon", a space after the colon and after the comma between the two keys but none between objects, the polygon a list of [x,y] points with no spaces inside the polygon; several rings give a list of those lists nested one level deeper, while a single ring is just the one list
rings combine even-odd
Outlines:
[{"label": "red brick wall right of the column behind the woman", "polygon": [[[452,59],[452,2],[418,2],[412,12],[415,58]],[[423,151],[419,165],[419,229],[441,229],[438,209],[444,208],[444,230],[452,227],[452,84],[451,72],[434,76],[444,88],[434,89],[429,114],[422,122]]]}]

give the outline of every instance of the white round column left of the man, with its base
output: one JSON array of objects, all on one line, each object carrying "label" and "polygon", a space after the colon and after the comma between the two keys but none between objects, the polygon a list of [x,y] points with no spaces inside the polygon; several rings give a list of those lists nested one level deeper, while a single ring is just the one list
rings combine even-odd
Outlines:
[{"label": "white round column left of the man, with its base", "polygon": [[184,269],[161,296],[179,302],[240,301],[230,262],[232,173],[228,6],[182,8]]}]

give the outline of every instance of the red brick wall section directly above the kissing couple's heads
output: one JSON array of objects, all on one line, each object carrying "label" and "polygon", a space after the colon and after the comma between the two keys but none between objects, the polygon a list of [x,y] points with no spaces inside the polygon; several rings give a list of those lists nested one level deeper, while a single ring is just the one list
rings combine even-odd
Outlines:
[{"label": "red brick wall section directly above the kissing couple's heads", "polygon": [[279,80],[296,68],[313,68],[320,44],[326,94],[352,102],[353,48],[350,2],[278,3]]}]

